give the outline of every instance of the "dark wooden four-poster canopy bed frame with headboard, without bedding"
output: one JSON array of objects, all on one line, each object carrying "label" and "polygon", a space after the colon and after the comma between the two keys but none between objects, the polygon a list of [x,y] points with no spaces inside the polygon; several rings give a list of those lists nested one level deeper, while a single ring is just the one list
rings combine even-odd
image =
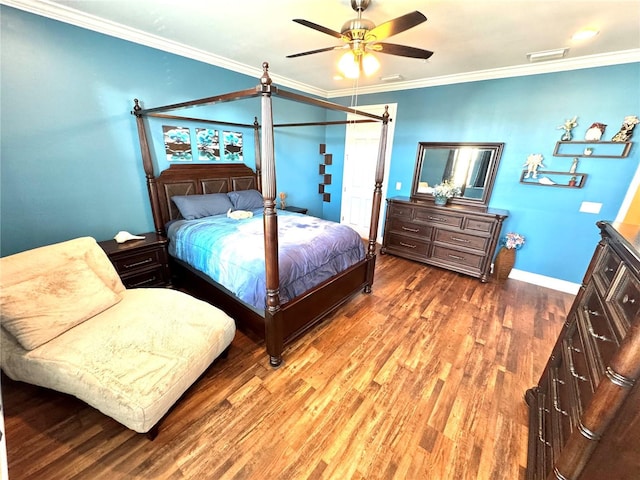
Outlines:
[{"label": "dark wooden four-poster canopy bed frame with headboard, without bedding", "polygon": [[[251,97],[261,98],[260,123],[258,123],[257,117],[252,124],[238,124],[167,113],[200,105],[211,106]],[[362,120],[357,120],[357,122],[381,123],[380,146],[377,158],[375,185],[373,186],[371,227],[366,248],[363,240],[358,236],[357,240],[362,248],[362,255],[360,257],[352,260],[351,264],[346,266],[346,268],[343,266],[343,270],[331,274],[328,278],[321,278],[318,284],[313,286],[307,285],[308,288],[305,287],[303,292],[297,291],[294,293],[295,297],[286,298],[284,301],[281,298],[280,284],[283,276],[280,271],[283,263],[283,247],[281,244],[286,244],[287,242],[286,238],[278,238],[278,218],[281,217],[280,235],[284,237],[284,235],[288,234],[287,232],[289,232],[289,230],[286,230],[282,223],[286,222],[287,216],[291,214],[276,209],[275,199],[277,190],[275,179],[274,128],[335,125],[347,124],[349,122],[344,120],[274,125],[272,97],[280,97],[330,110],[355,113],[363,117]],[[189,264],[188,261],[178,258],[179,256],[176,256],[176,250],[178,250],[179,247],[172,245],[172,242],[175,241],[172,237],[170,237],[169,242],[172,275],[174,276],[176,286],[218,306],[235,319],[239,328],[245,331],[250,330],[264,339],[271,366],[277,367],[281,364],[282,352],[288,342],[302,335],[358,291],[364,290],[367,293],[371,291],[376,261],[376,235],[382,198],[382,177],[384,172],[387,124],[389,122],[389,114],[386,109],[383,115],[378,116],[361,112],[354,108],[344,107],[282,90],[272,85],[268,73],[268,64],[264,63],[260,84],[255,88],[148,109],[143,109],[138,99],[136,99],[132,113],[135,115],[137,121],[142,164],[147,178],[149,198],[157,233],[166,235],[168,230],[175,230],[175,224],[179,222],[188,225],[192,224],[191,220],[185,221],[183,219],[181,211],[177,208],[176,199],[172,199],[172,197],[196,199],[205,198],[205,196],[209,194],[233,194],[232,192],[243,191],[249,194],[254,190],[261,192],[261,208],[259,211],[254,210],[253,212],[257,218],[249,220],[253,220],[254,222],[257,220],[262,224],[260,234],[263,236],[263,241],[261,242],[260,250],[264,247],[262,278],[263,288],[265,290],[262,305],[251,305],[249,302],[238,298],[229,288],[225,288],[221,283],[214,281],[209,274],[203,273],[199,268]],[[255,141],[256,171],[254,172],[244,164],[172,164],[159,175],[156,175],[151,154],[152,146],[149,141],[151,135],[147,132],[149,122],[145,122],[145,118],[175,119],[252,128]],[[198,195],[200,197],[188,197],[190,195]],[[229,222],[226,218],[227,215],[218,216],[225,217],[225,221],[227,221],[227,223]],[[312,222],[312,220],[302,217],[305,216],[300,215],[294,223],[301,224],[306,222],[304,226],[307,228],[319,228],[315,223],[314,225],[309,225],[309,222]],[[213,217],[201,218],[194,220],[194,222],[200,221],[207,223],[209,222],[209,218]],[[239,222],[244,221],[245,220],[240,220]],[[326,222],[323,220],[319,221]],[[315,222],[315,220],[313,222]],[[339,224],[336,225],[344,227]],[[200,228],[200,225],[198,225],[197,228]],[[285,233],[283,233],[283,229]],[[329,248],[321,248],[323,251],[332,251],[333,249],[333,244]],[[202,250],[205,249],[203,248]],[[216,260],[210,260],[210,263],[215,264]],[[262,260],[260,260],[260,263],[262,263]],[[326,276],[327,275],[325,275],[325,277]]]}]

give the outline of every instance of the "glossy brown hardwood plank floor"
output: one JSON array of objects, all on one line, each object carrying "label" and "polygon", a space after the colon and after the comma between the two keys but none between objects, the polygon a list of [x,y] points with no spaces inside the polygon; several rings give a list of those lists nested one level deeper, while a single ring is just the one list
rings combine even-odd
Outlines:
[{"label": "glossy brown hardwood plank floor", "polygon": [[379,256],[373,293],[290,345],[280,369],[238,332],[154,441],[3,376],[9,476],[524,479],[523,395],[572,300]]}]

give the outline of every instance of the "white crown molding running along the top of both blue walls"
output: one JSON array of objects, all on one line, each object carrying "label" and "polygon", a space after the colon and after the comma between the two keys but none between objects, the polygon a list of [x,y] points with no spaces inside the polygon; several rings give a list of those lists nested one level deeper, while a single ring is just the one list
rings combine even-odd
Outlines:
[{"label": "white crown molding running along the top of both blue walls", "polygon": [[[88,15],[78,10],[65,7],[63,5],[51,3],[47,0],[0,0],[0,4],[14,7],[29,13],[34,13],[43,17],[58,20],[60,22],[86,28],[95,32],[103,33],[122,40],[127,40],[139,45],[155,48],[165,52],[191,58],[199,62],[215,65],[237,73],[248,75],[253,78],[262,76],[262,69],[251,67],[234,60],[214,55],[204,50],[199,50],[178,42],[173,42],[165,38],[158,37],[140,30],[126,27],[119,23],[111,22],[94,15]],[[452,85],[456,83],[478,82],[482,80],[495,80],[500,78],[521,77],[527,75],[538,75],[543,73],[555,73],[569,70],[579,70],[584,68],[603,67],[619,65],[624,63],[640,62],[640,48],[623,50],[600,55],[590,55],[578,58],[553,60],[539,62],[515,67],[503,67],[490,70],[480,70],[455,75],[444,75],[440,77],[423,78],[393,84],[372,85],[369,87],[358,87],[358,95],[372,93],[393,92],[399,90],[411,90],[416,88],[427,88],[442,85]],[[306,83],[297,82],[287,77],[271,75],[272,80],[279,86],[294,88],[302,92],[316,95],[321,98],[347,97],[353,94],[353,88],[338,90],[324,90]]]}]

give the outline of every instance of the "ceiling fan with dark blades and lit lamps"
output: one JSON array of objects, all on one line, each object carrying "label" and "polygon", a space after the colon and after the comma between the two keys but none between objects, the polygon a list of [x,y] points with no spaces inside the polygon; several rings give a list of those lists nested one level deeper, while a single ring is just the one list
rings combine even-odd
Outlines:
[{"label": "ceiling fan with dark blades and lit lamps", "polygon": [[[287,58],[302,57],[331,50],[348,50],[347,57],[348,61],[352,64],[352,75],[347,74],[347,76],[350,78],[357,78],[363,70],[365,73],[369,73],[367,72],[368,67],[370,67],[370,65],[367,64],[368,61],[375,63],[375,68],[373,70],[379,67],[378,61],[375,57],[370,55],[370,52],[386,53],[388,55],[397,55],[401,57],[421,58],[424,60],[433,55],[433,52],[429,50],[382,42],[382,40],[392,35],[404,32],[405,30],[425,22],[427,17],[422,13],[415,11],[376,26],[371,20],[362,18],[362,12],[370,3],[371,0],[351,0],[351,8],[358,13],[358,17],[347,20],[342,26],[340,32],[336,32],[335,30],[331,30],[330,28],[323,27],[322,25],[318,25],[317,23],[313,23],[308,20],[295,18],[293,20],[294,22],[319,32],[326,33],[332,37],[339,38],[345,43],[343,45],[319,48],[308,52],[287,55]],[[343,57],[341,62],[344,61],[344,58],[345,57]],[[341,69],[345,71],[343,68]]]}]

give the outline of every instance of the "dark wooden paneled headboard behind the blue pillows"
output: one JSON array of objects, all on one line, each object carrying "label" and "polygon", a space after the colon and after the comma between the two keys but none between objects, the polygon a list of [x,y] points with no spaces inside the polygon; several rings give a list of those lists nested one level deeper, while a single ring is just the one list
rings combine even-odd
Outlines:
[{"label": "dark wooden paneled headboard behind the blue pillows", "polygon": [[[259,190],[256,173],[244,164],[172,164],[155,181],[149,182],[152,195],[157,195],[157,212],[162,230],[170,220],[182,218],[174,195],[226,193],[234,190]],[[152,201],[153,209],[153,201]]]}]

